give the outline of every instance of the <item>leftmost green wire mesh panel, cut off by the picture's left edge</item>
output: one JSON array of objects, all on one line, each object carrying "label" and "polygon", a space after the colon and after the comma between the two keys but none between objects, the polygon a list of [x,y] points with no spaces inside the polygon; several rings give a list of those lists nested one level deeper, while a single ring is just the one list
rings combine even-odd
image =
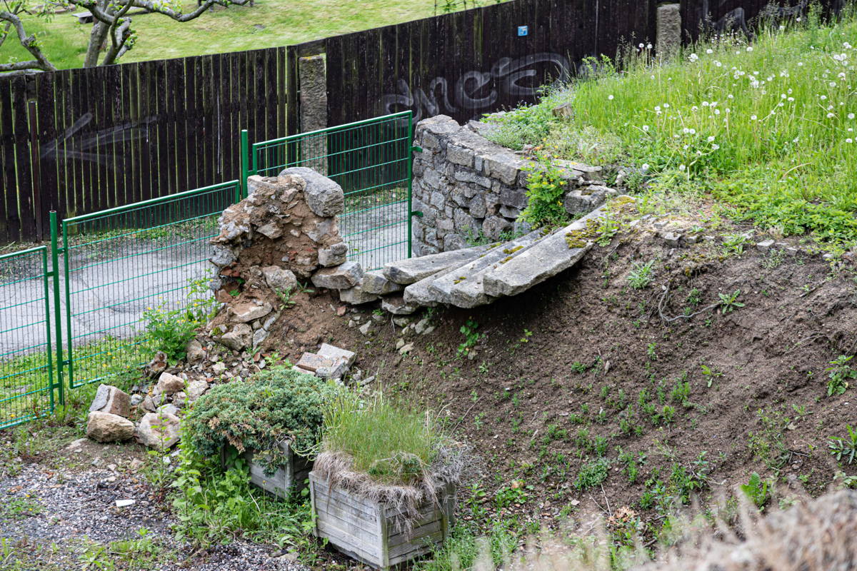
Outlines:
[{"label": "leftmost green wire mesh panel, cut off by the picture's left edge", "polygon": [[0,256],[0,429],[53,412],[47,248]]}]

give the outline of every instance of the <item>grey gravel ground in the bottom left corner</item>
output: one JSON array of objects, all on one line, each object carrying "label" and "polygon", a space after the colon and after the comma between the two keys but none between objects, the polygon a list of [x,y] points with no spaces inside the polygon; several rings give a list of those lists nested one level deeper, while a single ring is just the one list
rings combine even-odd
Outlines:
[{"label": "grey gravel ground in the bottom left corner", "polygon": [[[148,566],[151,571],[307,569],[266,545],[239,540],[195,552],[187,545],[177,544],[169,531],[169,514],[161,509],[163,503],[151,496],[151,488],[141,477],[104,460],[94,462],[95,466],[75,472],[26,464],[14,476],[0,478],[0,538],[15,546],[13,556],[26,561],[12,568],[81,568],[80,556],[87,545],[138,538],[137,530],[146,528],[147,537],[174,554],[168,561]],[[116,501],[124,499],[134,499],[135,503],[117,508]],[[29,505],[32,511],[26,507]],[[25,507],[13,508],[21,506]],[[0,568],[13,562],[0,561]],[[123,567],[117,565],[120,568]]]}]

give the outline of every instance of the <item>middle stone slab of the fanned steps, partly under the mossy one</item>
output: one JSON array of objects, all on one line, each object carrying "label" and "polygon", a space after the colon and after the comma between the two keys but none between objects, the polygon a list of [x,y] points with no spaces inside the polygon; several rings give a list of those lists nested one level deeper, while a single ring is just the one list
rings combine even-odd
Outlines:
[{"label": "middle stone slab of the fanned steps, partly under the mossy one", "polygon": [[441,303],[458,307],[483,306],[491,298],[482,288],[482,277],[505,259],[511,259],[524,252],[527,247],[544,237],[542,230],[534,230],[527,235],[506,242],[483,253],[478,258],[458,267],[455,271],[444,272],[428,284],[428,291]]}]

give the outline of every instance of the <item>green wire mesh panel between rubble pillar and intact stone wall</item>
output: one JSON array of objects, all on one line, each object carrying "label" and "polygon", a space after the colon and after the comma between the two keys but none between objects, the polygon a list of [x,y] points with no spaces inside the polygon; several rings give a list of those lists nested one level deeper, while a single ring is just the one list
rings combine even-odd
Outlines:
[{"label": "green wire mesh panel between rubble pillar and intact stone wall", "polygon": [[411,257],[412,129],[405,111],[252,146],[242,132],[243,180],[308,167],[336,181],[345,191],[339,233],[348,257],[375,270]]}]

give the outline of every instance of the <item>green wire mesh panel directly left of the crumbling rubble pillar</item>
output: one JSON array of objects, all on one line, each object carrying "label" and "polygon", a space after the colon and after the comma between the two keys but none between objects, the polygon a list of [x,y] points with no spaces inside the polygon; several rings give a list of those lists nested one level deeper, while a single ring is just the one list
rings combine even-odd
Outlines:
[{"label": "green wire mesh panel directly left of the crumbling rubble pillar", "polygon": [[189,325],[183,311],[210,299],[218,217],[239,197],[231,181],[63,220],[69,387],[140,366],[148,338]]}]

